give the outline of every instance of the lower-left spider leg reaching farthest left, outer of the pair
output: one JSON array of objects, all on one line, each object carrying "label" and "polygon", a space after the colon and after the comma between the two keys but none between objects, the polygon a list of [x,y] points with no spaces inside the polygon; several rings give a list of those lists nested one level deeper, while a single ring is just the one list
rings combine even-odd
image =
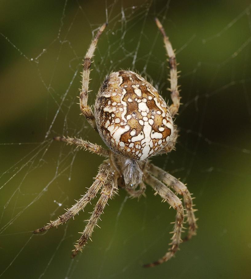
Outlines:
[{"label": "lower-left spider leg reaching farthest left, outer of the pair", "polygon": [[70,209],[67,209],[66,213],[58,217],[57,220],[51,221],[50,224],[35,230],[33,233],[38,234],[43,231],[48,231],[49,229],[53,227],[58,227],[60,224],[65,223],[69,219],[74,217],[78,213],[78,211],[83,209],[86,206],[86,204],[90,202],[90,200],[95,198],[95,196],[98,193],[98,190],[105,184],[108,174],[109,174],[109,167],[106,163],[104,163],[100,166],[98,175],[95,177],[94,183],[88,189],[86,194],[77,201],[77,203],[75,203]]}]

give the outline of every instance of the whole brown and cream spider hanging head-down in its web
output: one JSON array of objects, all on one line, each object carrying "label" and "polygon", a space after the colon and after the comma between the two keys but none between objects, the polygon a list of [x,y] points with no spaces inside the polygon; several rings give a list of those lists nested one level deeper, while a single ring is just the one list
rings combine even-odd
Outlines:
[{"label": "whole brown and cream spider hanging head-down in its web", "polygon": [[[180,95],[177,85],[177,63],[175,53],[165,34],[161,22],[155,18],[158,29],[163,35],[164,46],[169,56],[170,88],[172,104],[167,106],[158,91],[139,74],[121,70],[112,72],[103,82],[96,101],[95,112],[88,105],[88,87],[91,58],[98,39],[106,28],[106,23],[98,30],[83,60],[82,89],[80,89],[80,110],[90,125],[98,131],[109,149],[78,138],[56,137],[56,141],[83,147],[106,158],[99,167],[94,183],[70,209],[46,226],[34,231],[35,234],[67,222],[78,214],[90,200],[94,199],[102,188],[100,198],[94,207],[81,237],[74,246],[72,257],[82,251],[105,205],[118,187],[124,188],[130,197],[144,195],[146,184],[151,186],[155,195],[169,203],[176,210],[173,236],[168,252],[158,261],[144,265],[153,267],[173,257],[182,242],[181,232],[184,216],[188,223],[188,234],[185,240],[196,234],[191,194],[180,180],[153,165],[149,158],[160,153],[168,153],[174,149],[178,130],[174,128],[173,118],[180,106]],[[181,200],[172,190],[183,196],[186,215]]]}]

